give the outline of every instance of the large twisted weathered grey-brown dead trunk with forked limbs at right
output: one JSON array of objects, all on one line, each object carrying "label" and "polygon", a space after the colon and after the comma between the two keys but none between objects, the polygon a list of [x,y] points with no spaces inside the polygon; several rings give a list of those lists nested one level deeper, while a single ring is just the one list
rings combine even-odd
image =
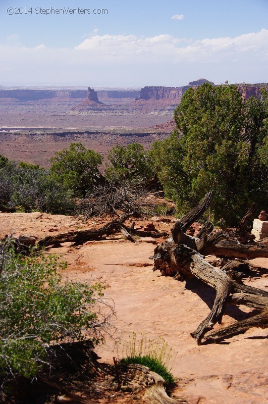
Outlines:
[{"label": "large twisted weathered grey-brown dead trunk with forked limbs at right", "polygon": [[[243,332],[253,326],[266,326],[268,310],[268,292],[246,286],[240,281],[240,277],[232,276],[231,273],[225,272],[223,269],[231,269],[241,267],[241,262],[232,262],[223,269],[212,267],[204,260],[200,254],[208,252],[220,256],[234,256],[235,252],[240,257],[268,257],[268,250],[263,246],[244,245],[237,240],[230,240],[229,233],[218,232],[216,234],[207,235],[206,232],[201,234],[201,238],[194,238],[184,231],[187,225],[192,224],[192,219],[196,220],[198,215],[201,215],[207,209],[211,200],[211,193],[207,194],[201,204],[189,212],[183,219],[175,223],[172,228],[172,239],[158,245],[154,250],[154,270],[160,270],[164,275],[172,275],[175,279],[184,280],[196,277],[210,285],[216,290],[216,298],[209,315],[199,324],[197,329],[191,333],[198,344],[201,344],[202,338],[207,331],[210,331],[213,326],[219,322],[221,324],[222,317],[225,312],[226,305],[243,304],[253,307],[257,310],[264,311],[262,314],[253,316],[250,319],[237,322],[232,326],[225,327],[221,330],[209,333],[205,338],[217,340],[223,337],[231,336],[235,333]],[[210,228],[210,227],[209,227]],[[184,231],[183,231],[183,230]],[[226,246],[228,246],[228,251]],[[200,252],[199,252],[200,251]],[[219,254],[219,251],[221,254]],[[225,254],[223,254],[223,251]],[[234,298],[230,297],[233,294]]]}]

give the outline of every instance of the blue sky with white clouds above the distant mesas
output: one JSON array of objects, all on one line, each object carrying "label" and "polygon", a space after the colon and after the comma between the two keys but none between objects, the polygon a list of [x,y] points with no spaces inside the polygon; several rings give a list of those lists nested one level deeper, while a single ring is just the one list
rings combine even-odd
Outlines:
[{"label": "blue sky with white clouds above the distant mesas", "polygon": [[0,58],[0,85],[267,82],[268,1],[0,0]]}]

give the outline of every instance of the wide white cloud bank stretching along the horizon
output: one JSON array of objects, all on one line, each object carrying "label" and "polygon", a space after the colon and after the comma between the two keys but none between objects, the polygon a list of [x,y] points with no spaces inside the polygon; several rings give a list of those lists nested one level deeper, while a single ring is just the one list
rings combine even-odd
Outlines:
[{"label": "wide white cloud bank stretching along the horizon", "polygon": [[267,81],[268,30],[196,41],[95,31],[74,48],[0,45],[0,54],[2,85],[183,85],[197,77],[258,82]]}]

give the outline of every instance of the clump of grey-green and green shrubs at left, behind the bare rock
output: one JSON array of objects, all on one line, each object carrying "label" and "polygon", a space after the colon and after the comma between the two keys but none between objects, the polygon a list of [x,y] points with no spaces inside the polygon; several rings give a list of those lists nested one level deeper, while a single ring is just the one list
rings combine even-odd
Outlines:
[{"label": "clump of grey-green and green shrubs at left, behind the bare rock", "polygon": [[0,205],[21,212],[66,214],[73,212],[77,197],[83,197],[101,176],[102,157],[81,143],[57,151],[49,170],[0,156]]}]

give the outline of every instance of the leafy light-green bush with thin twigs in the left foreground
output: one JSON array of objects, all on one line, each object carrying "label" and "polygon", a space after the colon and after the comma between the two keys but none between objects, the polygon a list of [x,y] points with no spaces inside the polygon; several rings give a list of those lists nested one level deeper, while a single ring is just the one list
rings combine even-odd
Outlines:
[{"label": "leafy light-green bush with thin twigs in the left foreground", "polygon": [[90,340],[93,347],[113,331],[114,305],[102,284],[62,281],[66,263],[16,254],[12,244],[0,242],[0,398],[18,377],[49,366],[50,345]]}]

